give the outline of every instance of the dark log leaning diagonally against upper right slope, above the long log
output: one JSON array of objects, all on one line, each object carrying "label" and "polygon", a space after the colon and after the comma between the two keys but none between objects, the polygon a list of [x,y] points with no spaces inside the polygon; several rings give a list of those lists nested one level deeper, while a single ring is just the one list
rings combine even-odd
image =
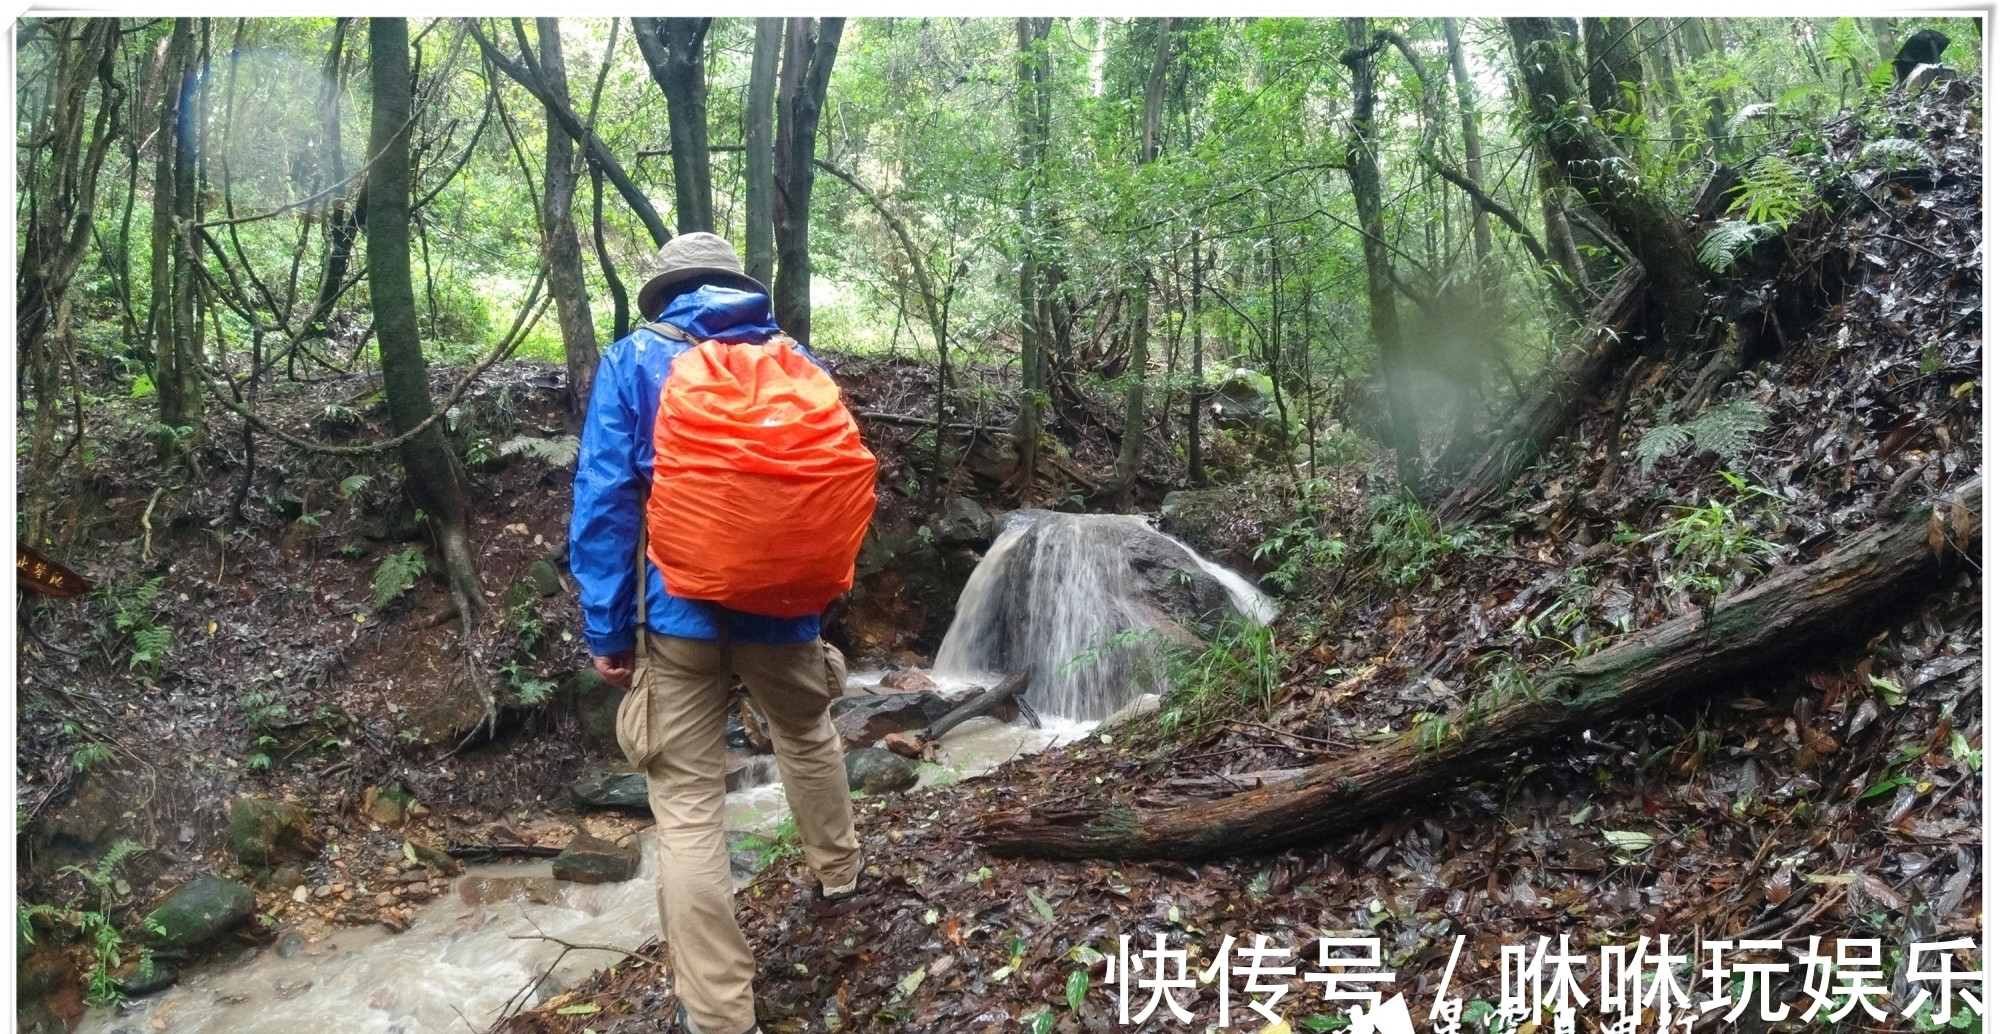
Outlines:
[{"label": "dark log leaning diagonally against upper right slope, above the long log", "polygon": [[1514,412],[1486,454],[1458,478],[1452,494],[1438,504],[1438,514],[1444,520],[1458,520],[1486,496],[1512,486],[1514,478],[1542,454],[1542,448],[1576,422],[1574,416],[1584,398],[1596,390],[1612,364],[1634,350],[1626,330],[1640,314],[1644,278],[1644,268],[1626,266],[1612,280],[1604,300],[1584,320],[1576,344],[1550,366],[1542,394]]}]

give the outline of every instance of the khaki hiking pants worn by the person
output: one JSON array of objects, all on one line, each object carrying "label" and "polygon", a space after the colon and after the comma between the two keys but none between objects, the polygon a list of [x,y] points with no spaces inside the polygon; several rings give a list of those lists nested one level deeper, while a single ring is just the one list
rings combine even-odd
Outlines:
[{"label": "khaki hiking pants worn by the person", "polygon": [[[660,836],[660,928],[674,962],[674,992],[702,1034],[740,1034],[756,1024],[756,962],[736,926],[722,826],[722,722],[730,698],[716,678],[720,644],[652,634],[644,640],[628,696],[648,694],[650,744],[658,748],[646,764],[646,794]],[[806,864],[822,886],[850,884],[860,870],[860,842],[840,736],[828,718],[846,688],[846,662],[818,638],[788,646],[730,642],[728,656],[770,724]]]}]

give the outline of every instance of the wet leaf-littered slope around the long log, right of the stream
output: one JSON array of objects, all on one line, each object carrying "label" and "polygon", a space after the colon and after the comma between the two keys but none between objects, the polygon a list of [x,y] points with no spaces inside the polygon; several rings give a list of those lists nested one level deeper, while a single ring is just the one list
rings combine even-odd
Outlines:
[{"label": "wet leaf-littered slope around the long log, right of the stream", "polygon": [[[968,834],[998,808],[1184,802],[1226,794],[1224,774],[1398,736],[1500,672],[1700,610],[1974,478],[1982,110],[1976,84],[1948,90],[1836,122],[1812,158],[1850,168],[1848,186],[1828,214],[1770,242],[1776,256],[1748,284],[1758,304],[1738,320],[1754,362],[1706,410],[1734,408],[1746,428],[1692,428],[1700,418],[1686,414],[1688,434],[1660,430],[1706,356],[1642,356],[1626,406],[1588,412],[1470,526],[1372,504],[1384,464],[1328,478],[1302,510],[1270,502],[1300,498],[1286,482],[1240,484],[1208,518],[1180,520],[1216,554],[1244,554],[1300,518],[1346,544],[1344,564],[1308,566],[1290,596],[1276,628],[1288,664],[1268,708],[1168,700],[1184,714],[1172,736],[1142,718],[982,778],[866,802],[856,898],[816,902],[798,862],[738,898],[762,960],[764,1028],[1108,1030],[1118,1010],[1102,958],[1120,936],[1134,952],[1164,936],[1188,952],[1190,976],[1226,938],[1268,934],[1286,948],[1272,964],[1300,972],[1314,968],[1314,938],[1380,938],[1418,1026],[1460,936],[1450,994],[1468,1020],[1502,998],[1502,946],[1532,950],[1540,936],[1568,934],[1592,972],[1598,946],[1652,934],[1690,956],[1696,940],[1782,940],[1784,962],[1810,936],[1880,938],[1900,1010],[1914,994],[1906,946],[1978,936],[1984,918],[1976,566],[1800,670],[1688,686],[1670,706],[1536,744],[1508,778],[1412,802],[1340,842],[1200,866],[1094,864],[996,858]],[[1870,166],[1864,148],[1886,134],[1922,158]],[[1640,452],[1658,452],[1650,470]],[[666,1030],[666,952],[642,954],[498,1030]],[[1288,1026],[1270,1030],[1344,1026],[1314,984],[1276,982],[1290,990],[1274,1008]],[[1132,990],[1138,1012],[1150,994]],[[1606,986],[1586,976],[1580,990],[1594,1016]],[[1794,1018],[1772,1030],[1798,1026],[1798,978],[1776,990]],[[1228,1026],[1264,1028],[1234,994]],[[1218,984],[1200,980],[1180,1004],[1194,1020],[1174,1026],[1162,1010],[1146,1028],[1208,1028]],[[1892,1016],[1880,1028],[1918,1026]]]}]

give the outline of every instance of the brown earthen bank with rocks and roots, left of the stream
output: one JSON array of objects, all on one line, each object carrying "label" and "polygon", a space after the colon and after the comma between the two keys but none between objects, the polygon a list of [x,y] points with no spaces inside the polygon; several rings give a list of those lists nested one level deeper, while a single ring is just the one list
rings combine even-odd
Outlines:
[{"label": "brown earthen bank with rocks and roots, left of the stream", "polygon": [[[914,542],[936,508],[928,454],[912,444],[914,422],[934,406],[932,370],[898,356],[828,360],[858,410],[886,414],[868,426],[888,486],[876,520]],[[434,398],[460,374],[434,370]],[[620,840],[650,824],[580,810],[570,792],[578,774],[618,758],[586,730],[592,702],[572,678],[588,654],[564,566],[560,366],[504,362],[450,420],[468,456],[472,538],[492,606],[472,666],[436,572],[410,574],[390,598],[378,592],[396,558],[428,548],[394,454],[308,454],[262,440],[246,462],[240,436],[218,434],[196,450],[200,472],[162,476],[144,434],[152,400],[120,398],[130,382],[116,366],[92,378],[96,454],[70,466],[60,512],[36,546],[94,592],[24,594],[20,614],[16,894],[54,908],[32,918],[24,1002],[74,1022],[92,968],[86,914],[102,910],[124,930],[130,976],[140,916],[204,874],[254,890],[258,920],[232,942],[294,932],[312,942],[356,924],[400,930],[462,868],[452,850],[552,854],[578,832]],[[388,436],[376,376],[274,382],[260,406],[266,420],[328,444]],[[234,416],[216,424],[240,428]],[[1102,440],[1078,448],[1108,456]],[[968,470],[1004,474],[992,466],[1000,460],[990,446],[972,450],[946,480],[1006,508],[1012,500],[994,498],[998,480]],[[1048,486],[1028,502],[1060,498]],[[898,584],[890,564],[868,582],[872,600],[830,624],[830,638],[876,666],[934,648],[950,598],[932,582]],[[146,636],[164,642],[152,656]],[[482,688],[500,704],[492,724],[480,722]],[[244,798],[300,806],[304,842],[272,866],[240,864],[230,812]],[[144,850],[124,854],[122,844]],[[98,888],[88,870],[114,852]],[[408,880],[416,872],[430,880]]]}]

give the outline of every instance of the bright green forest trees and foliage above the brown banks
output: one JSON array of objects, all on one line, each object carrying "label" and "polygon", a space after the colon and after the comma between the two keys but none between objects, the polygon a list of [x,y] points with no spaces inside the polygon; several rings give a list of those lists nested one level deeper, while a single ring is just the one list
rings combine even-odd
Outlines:
[{"label": "bright green forest trees and foliage above the brown banks", "polygon": [[[586,340],[644,316],[628,294],[668,220],[760,246],[772,168],[746,142],[768,146],[772,110],[750,98],[776,98],[776,280],[780,310],[812,314],[800,338],[928,356],[940,414],[1026,402],[1082,424],[1086,400],[1124,394],[1120,416],[1182,428],[1180,452],[1174,414],[1250,378],[1278,454],[1314,464],[1362,432],[1416,486],[1470,462],[1638,258],[1632,200],[1684,210],[1714,170],[1752,172],[1686,242],[1726,274],[1812,204],[1810,156],[1776,142],[1888,88],[1926,26],[1946,62],[1976,62],[1970,20],[1612,18],[1542,42],[1480,18],[418,22],[416,330],[442,364],[558,360],[568,340],[586,378]],[[260,384],[378,362],[360,218],[378,158],[358,20],[18,32],[22,520],[40,532],[50,478],[86,454],[80,370],[156,400],[162,452],[198,464]],[[1630,190],[1590,182],[1530,96],[1556,44],[1582,72],[1564,104],[1590,108]],[[686,112],[702,122],[682,134]],[[952,374],[992,362],[1020,370],[1018,398]]]}]

